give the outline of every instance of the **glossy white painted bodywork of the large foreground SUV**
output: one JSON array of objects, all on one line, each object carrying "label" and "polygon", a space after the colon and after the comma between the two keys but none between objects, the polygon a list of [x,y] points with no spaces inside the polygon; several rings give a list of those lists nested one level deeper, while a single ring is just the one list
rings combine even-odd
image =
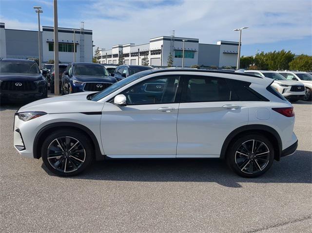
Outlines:
[{"label": "glossy white painted bodywork of the large foreground SUV", "polygon": [[[17,147],[16,149],[21,155],[32,157],[34,140],[39,130],[57,122],[77,123],[89,128],[96,136],[101,154],[111,158],[219,158],[227,136],[240,126],[253,124],[267,125],[276,130],[283,150],[297,141],[293,133],[294,117],[285,117],[272,109],[292,107],[289,102],[266,90],[272,79],[229,72],[157,71],[147,72],[146,76],[128,83],[98,101],[87,99],[87,96],[94,92],[80,92],[23,106],[18,113],[41,111],[47,114],[26,122],[15,116],[14,145],[16,147],[23,143],[25,146],[24,150]],[[269,101],[129,106],[110,103],[116,95],[139,82],[177,73],[249,82],[251,89]],[[87,115],[83,112],[101,114]],[[23,142],[18,131],[23,137]]]}]

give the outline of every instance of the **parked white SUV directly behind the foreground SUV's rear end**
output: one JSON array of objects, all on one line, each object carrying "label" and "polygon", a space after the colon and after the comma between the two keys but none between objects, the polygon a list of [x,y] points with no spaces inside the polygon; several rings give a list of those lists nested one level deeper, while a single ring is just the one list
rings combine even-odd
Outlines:
[{"label": "parked white SUV directly behind the foreground SUV's rear end", "polygon": [[250,73],[258,75],[261,77],[272,78],[274,82],[272,86],[275,90],[281,93],[286,99],[291,102],[304,99],[305,88],[300,82],[295,82],[292,80],[287,80],[285,77],[280,75],[278,72],[274,71],[245,71],[245,73]]}]

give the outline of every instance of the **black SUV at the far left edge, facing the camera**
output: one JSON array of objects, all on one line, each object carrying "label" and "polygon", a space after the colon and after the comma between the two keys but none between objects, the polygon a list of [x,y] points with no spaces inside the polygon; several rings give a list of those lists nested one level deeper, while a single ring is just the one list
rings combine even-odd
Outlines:
[{"label": "black SUV at the far left edge, facing the camera", "polygon": [[42,73],[35,61],[0,59],[1,100],[46,98],[47,81]]}]

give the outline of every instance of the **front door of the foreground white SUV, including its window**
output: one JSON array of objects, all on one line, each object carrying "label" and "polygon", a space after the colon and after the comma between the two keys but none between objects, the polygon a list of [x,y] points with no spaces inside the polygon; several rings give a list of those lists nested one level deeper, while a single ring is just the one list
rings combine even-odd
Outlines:
[{"label": "front door of the foreground white SUV, including its window", "polygon": [[105,154],[112,158],[175,158],[178,75],[140,82],[119,93],[124,107],[106,102],[101,118]]}]

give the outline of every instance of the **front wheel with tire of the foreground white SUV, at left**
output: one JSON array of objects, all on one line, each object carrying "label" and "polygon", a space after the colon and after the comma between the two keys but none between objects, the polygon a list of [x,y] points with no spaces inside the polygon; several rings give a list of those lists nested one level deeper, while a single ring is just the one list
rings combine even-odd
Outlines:
[{"label": "front wheel with tire of the foreground white SUV, at left", "polygon": [[41,147],[45,166],[62,177],[83,172],[92,163],[93,154],[91,141],[83,133],[72,129],[51,133]]}]

